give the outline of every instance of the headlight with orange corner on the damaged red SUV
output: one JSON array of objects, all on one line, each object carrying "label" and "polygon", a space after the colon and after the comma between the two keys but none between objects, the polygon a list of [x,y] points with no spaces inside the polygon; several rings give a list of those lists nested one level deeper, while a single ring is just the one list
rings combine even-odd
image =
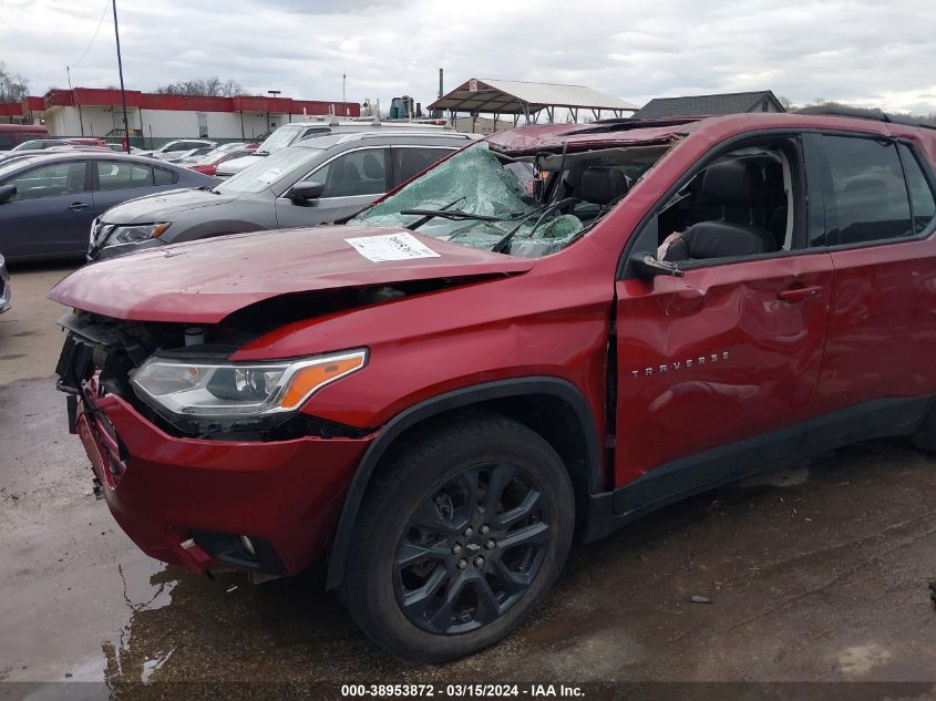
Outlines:
[{"label": "headlight with orange corner on the damaged red SUV", "polygon": [[209,363],[153,357],[131,373],[136,395],[167,419],[284,417],[318,390],[357,372],[364,349],[268,363]]}]

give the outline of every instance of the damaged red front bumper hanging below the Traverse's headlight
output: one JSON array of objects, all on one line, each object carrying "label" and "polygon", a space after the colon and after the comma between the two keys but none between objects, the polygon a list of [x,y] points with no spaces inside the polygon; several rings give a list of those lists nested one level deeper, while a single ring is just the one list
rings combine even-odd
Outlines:
[{"label": "damaged red front bumper hanging below the Traverse's headlight", "polygon": [[[99,398],[93,380],[86,390],[70,400],[70,420],[114,518],[151,557],[196,571],[295,574],[319,558],[371,442],[181,439],[120,396]],[[263,557],[218,555],[219,537],[239,535],[263,544]]]}]

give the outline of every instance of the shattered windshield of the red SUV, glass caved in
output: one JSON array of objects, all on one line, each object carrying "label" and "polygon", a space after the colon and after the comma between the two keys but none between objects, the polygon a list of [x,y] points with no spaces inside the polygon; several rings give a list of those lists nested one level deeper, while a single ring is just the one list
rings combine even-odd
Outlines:
[{"label": "shattered windshield of the red SUV, glass caved in", "polygon": [[479,142],[348,224],[402,227],[538,258],[562,250],[610,212],[667,148],[512,158]]}]

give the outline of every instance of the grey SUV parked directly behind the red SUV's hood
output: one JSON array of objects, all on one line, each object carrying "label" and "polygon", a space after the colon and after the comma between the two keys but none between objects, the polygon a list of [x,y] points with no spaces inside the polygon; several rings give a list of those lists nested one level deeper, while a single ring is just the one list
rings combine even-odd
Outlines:
[{"label": "grey SUV parked directly behind the red SUV's hood", "polygon": [[[105,212],[89,260],[224,234],[350,216],[471,141],[457,133],[317,136],[277,151],[213,189],[143,197]],[[157,231],[158,235],[152,235]]]}]

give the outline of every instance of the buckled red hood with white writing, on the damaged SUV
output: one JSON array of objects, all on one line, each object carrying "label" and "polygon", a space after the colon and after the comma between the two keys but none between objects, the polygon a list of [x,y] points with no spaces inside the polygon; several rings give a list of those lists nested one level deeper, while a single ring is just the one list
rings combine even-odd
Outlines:
[{"label": "buckled red hood with white writing, on the damaged SUV", "polygon": [[[413,236],[436,255],[376,262],[346,240],[392,234]],[[521,274],[533,265],[407,229],[322,226],[234,234],[104,260],[66,277],[49,298],[116,319],[217,323],[282,295]]]}]

